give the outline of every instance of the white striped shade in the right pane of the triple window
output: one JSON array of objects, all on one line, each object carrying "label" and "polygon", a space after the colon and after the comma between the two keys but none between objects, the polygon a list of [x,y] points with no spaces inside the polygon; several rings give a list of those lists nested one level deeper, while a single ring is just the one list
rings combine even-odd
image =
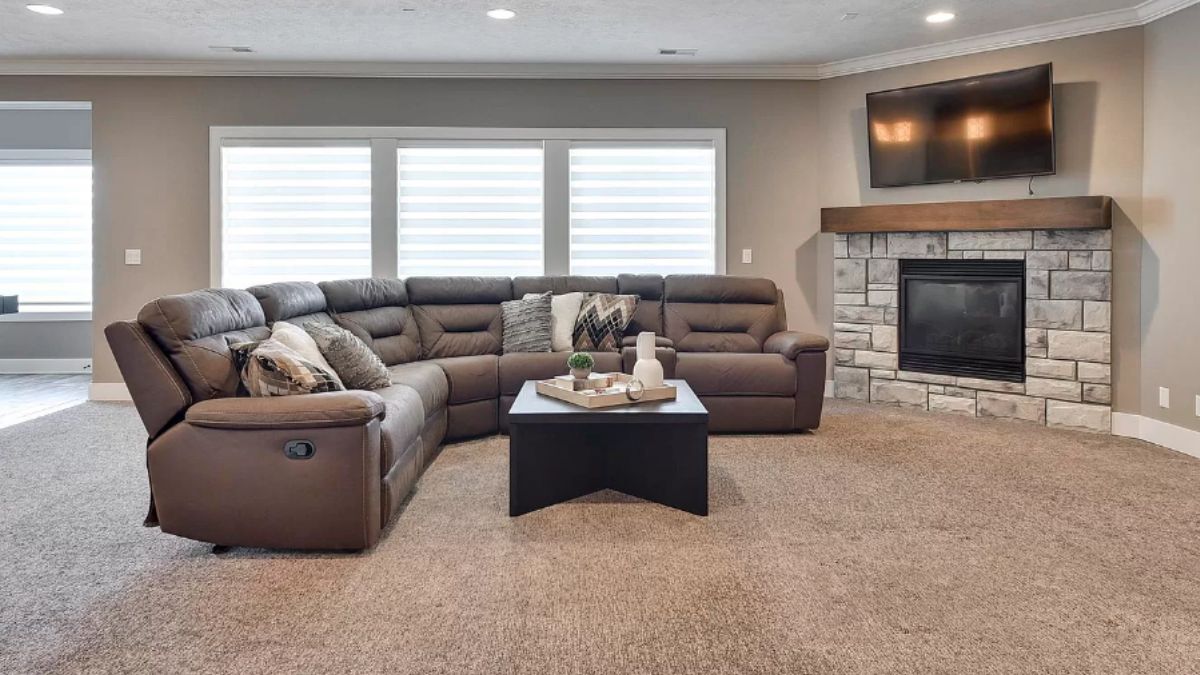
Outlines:
[{"label": "white striped shade in the right pane of the triple window", "polygon": [[572,144],[571,274],[715,273],[715,156],[712,144]]}]

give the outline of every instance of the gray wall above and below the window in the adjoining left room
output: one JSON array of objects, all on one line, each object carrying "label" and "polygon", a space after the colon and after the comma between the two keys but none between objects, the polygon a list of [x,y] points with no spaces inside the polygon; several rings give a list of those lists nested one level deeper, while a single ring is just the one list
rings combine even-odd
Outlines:
[{"label": "gray wall above and below the window in the adjoining left room", "polygon": [[[12,100],[7,91],[2,95]],[[91,148],[89,110],[0,110],[0,149],[88,148]],[[4,292],[0,288],[0,293]],[[90,356],[90,321],[0,321],[0,359],[85,359]]]}]

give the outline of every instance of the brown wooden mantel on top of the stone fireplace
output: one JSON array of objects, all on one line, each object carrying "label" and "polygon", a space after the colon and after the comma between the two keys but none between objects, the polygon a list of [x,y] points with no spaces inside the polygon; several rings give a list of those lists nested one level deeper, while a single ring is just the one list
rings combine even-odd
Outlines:
[{"label": "brown wooden mantel on top of the stone fireplace", "polygon": [[821,209],[821,232],[1108,229],[1111,197],[875,204]]}]

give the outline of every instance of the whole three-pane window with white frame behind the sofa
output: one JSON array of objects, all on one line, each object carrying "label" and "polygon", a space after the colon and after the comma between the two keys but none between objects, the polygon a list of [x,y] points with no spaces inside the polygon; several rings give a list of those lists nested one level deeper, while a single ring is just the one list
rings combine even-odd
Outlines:
[{"label": "whole three-pane window with white frame behind the sofa", "polygon": [[212,281],[725,271],[719,129],[214,127]]}]

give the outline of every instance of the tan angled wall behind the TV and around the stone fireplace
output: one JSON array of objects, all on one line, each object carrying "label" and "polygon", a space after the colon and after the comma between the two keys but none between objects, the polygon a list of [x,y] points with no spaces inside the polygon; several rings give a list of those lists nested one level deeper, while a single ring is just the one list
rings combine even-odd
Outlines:
[{"label": "tan angled wall behind the TV and around the stone fireplace", "polygon": [[[1114,408],[1138,412],[1141,239],[1142,31],[1140,28],[863,73],[820,84],[822,207],[1006,199],[1027,179],[871,189],[865,95],[870,91],[1054,62],[1057,165],[1033,183],[1040,196],[1110,195],[1114,233]],[[818,319],[833,321],[832,235],[822,237]]]}]

